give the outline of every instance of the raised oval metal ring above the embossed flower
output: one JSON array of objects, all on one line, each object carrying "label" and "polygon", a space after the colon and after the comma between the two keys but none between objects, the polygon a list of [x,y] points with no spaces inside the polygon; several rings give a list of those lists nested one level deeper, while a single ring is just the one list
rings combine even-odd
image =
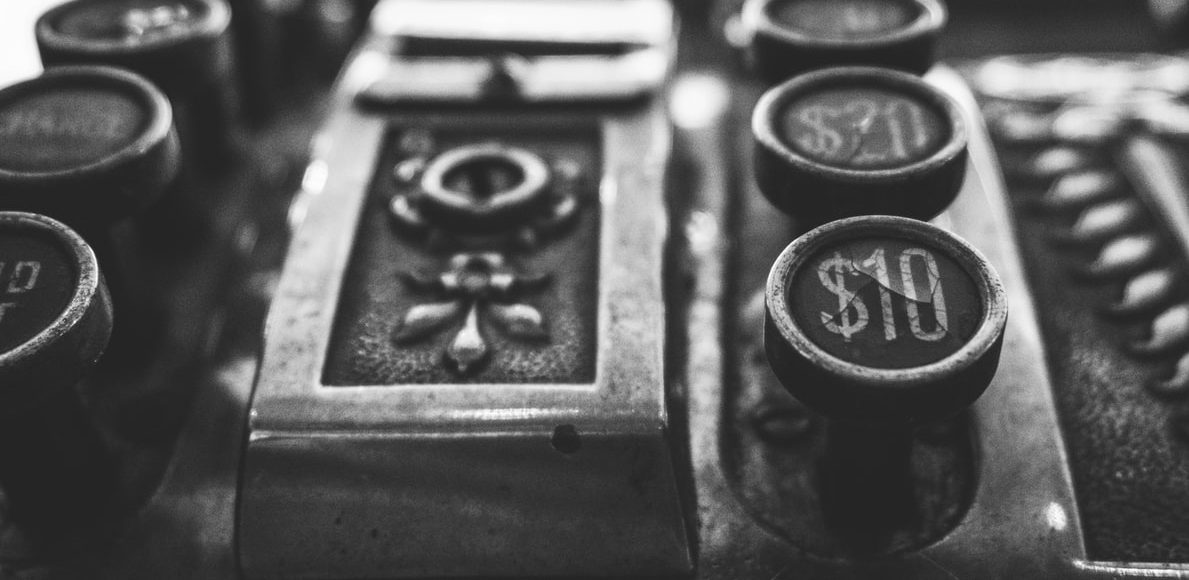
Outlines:
[{"label": "raised oval metal ring above the embossed flower", "polygon": [[[443,183],[446,174],[451,170],[466,163],[484,159],[502,160],[516,165],[523,174],[523,179],[516,187],[496,193],[484,201],[454,191]],[[528,206],[536,201],[548,184],[549,168],[541,157],[523,149],[499,144],[466,145],[446,151],[429,162],[421,176],[421,190],[426,194],[426,201],[473,218],[489,216]]]}]

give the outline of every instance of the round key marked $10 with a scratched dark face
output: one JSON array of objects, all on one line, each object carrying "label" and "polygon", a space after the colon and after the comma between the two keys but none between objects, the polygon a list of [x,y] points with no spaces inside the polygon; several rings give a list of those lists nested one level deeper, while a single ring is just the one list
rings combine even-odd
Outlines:
[{"label": "round key marked $10 with a scratched dark face", "polygon": [[925,222],[861,216],[822,226],[776,259],[765,343],[805,404],[867,428],[973,403],[999,363],[1007,303],[967,242]]}]

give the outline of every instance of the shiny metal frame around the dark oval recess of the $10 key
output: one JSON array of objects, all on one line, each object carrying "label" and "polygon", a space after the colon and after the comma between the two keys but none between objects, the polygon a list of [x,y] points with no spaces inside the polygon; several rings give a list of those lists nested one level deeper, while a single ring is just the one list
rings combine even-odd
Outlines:
[{"label": "shiny metal frame around the dark oval recess of the $10 key", "polygon": [[[716,377],[722,376],[722,367],[707,367],[722,359],[700,358],[699,372],[690,376],[691,449],[700,491],[700,578],[1059,578],[1072,574],[1074,562],[1082,557],[1076,504],[1064,467],[1044,351],[1011,242],[1011,222],[993,152],[961,80],[944,70],[935,71],[930,78],[962,105],[971,127],[965,185],[939,221],[987,256],[1000,272],[1013,310],[1005,332],[1000,370],[974,405],[973,430],[980,460],[970,508],[951,532],[919,551],[872,561],[831,561],[805,555],[803,547],[750,516],[741,497],[746,490],[735,487],[724,471],[729,465],[723,455],[726,447],[722,436],[729,430],[723,424],[724,398],[735,396],[737,386],[721,387]],[[709,188],[703,194],[723,193],[713,183]],[[700,202],[710,206],[699,203],[696,210],[722,203],[713,197]],[[697,276],[702,291],[713,292],[719,288],[716,280],[722,277],[722,256],[712,253],[699,261],[704,269]],[[694,304],[705,300],[702,291],[696,294]],[[705,322],[691,328],[691,335],[698,336],[691,348],[702,354],[716,348],[704,343],[703,338],[718,335]]]}]

